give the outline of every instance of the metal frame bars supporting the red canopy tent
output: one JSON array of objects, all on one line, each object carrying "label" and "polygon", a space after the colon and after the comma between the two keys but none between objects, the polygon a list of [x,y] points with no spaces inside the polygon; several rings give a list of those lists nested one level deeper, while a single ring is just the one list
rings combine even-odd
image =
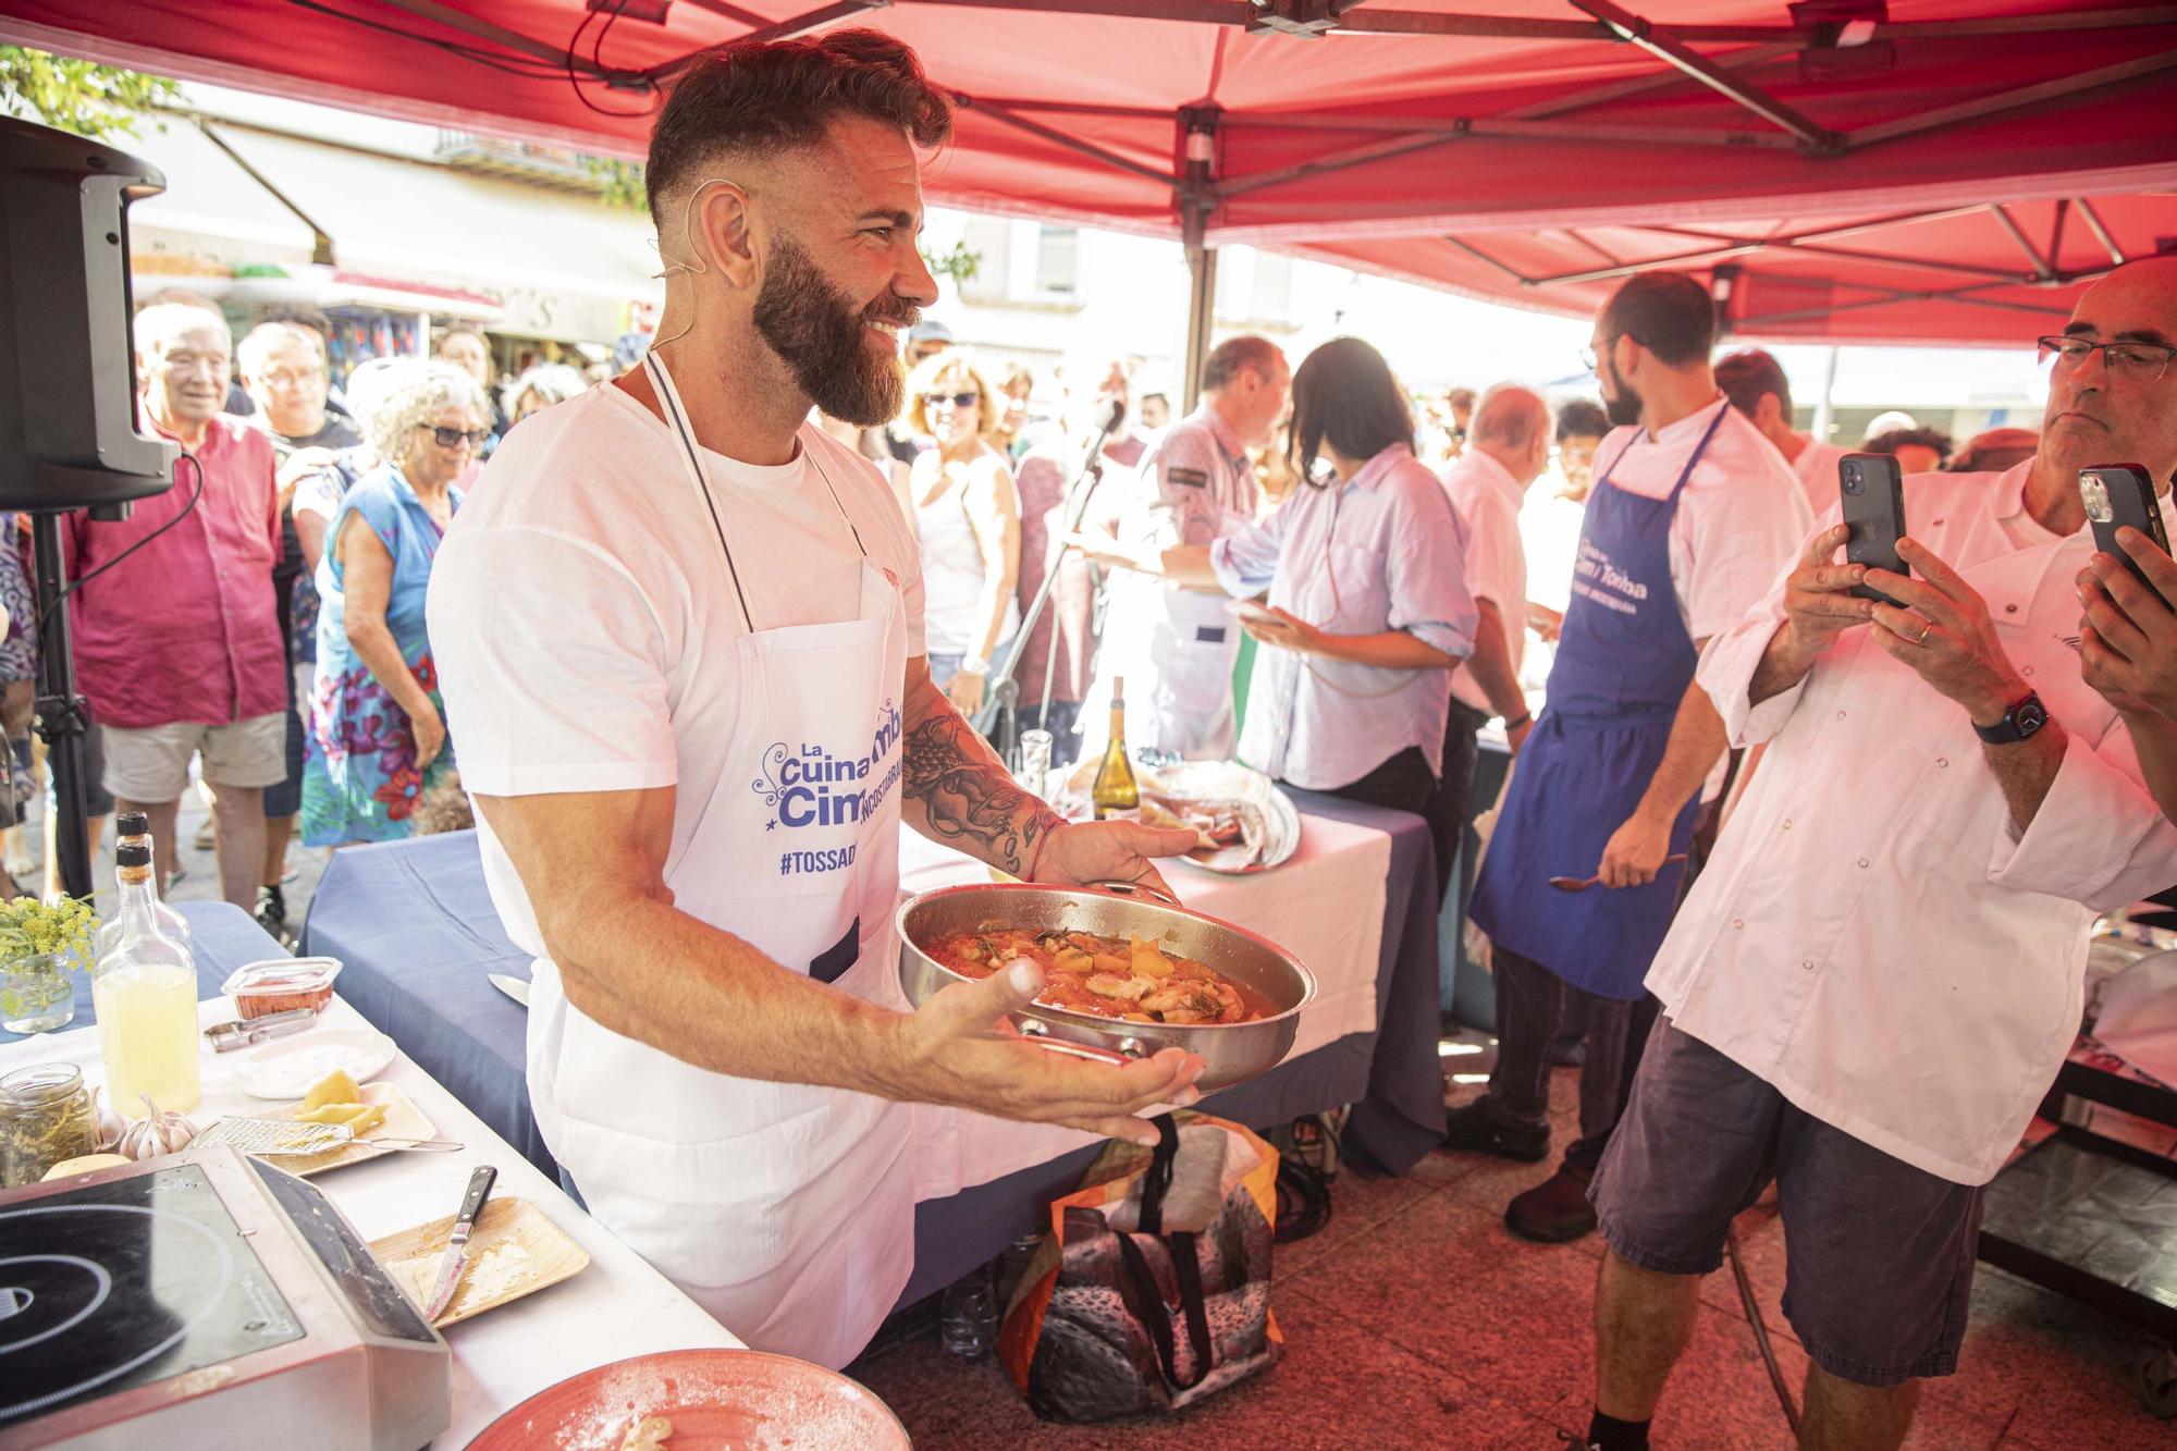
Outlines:
[{"label": "metal frame bars supporting the red canopy tent", "polygon": [[[618,89],[662,89],[668,87],[679,74],[694,65],[708,50],[690,50],[675,59],[668,59],[649,70],[605,70],[590,63],[583,57],[570,54],[564,46],[544,41],[520,31],[481,20],[468,11],[444,4],[442,0],[381,0],[388,7],[407,11],[420,20],[435,22],[440,26],[459,31],[479,41],[490,41],[503,46],[529,61],[551,61],[570,68],[588,81],[601,81]],[[1156,181],[1171,192],[1173,216],[1180,222],[1180,240],[1186,253],[1186,266],[1193,279],[1193,296],[1189,303],[1189,327],[1186,327],[1186,394],[1195,392],[1195,383],[1202,373],[1202,362],[1208,351],[1208,338],[1213,331],[1213,298],[1215,298],[1215,277],[1217,259],[1215,248],[1208,246],[1208,227],[1217,209],[1226,198],[1245,196],[1254,192],[1267,192],[1282,185],[1293,185],[1330,172],[1343,172],[1363,166],[1376,166],[1398,157],[1411,157],[1422,150],[1437,146],[1448,146],[1463,139],[1489,137],[1489,139],[1511,139],[1528,142],[1537,146],[1596,146],[1596,144],[1668,144],[1668,146],[1759,146],[1759,148],[1789,148],[1816,159],[1844,157],[1868,146],[1879,146],[1883,142],[1894,142],[1909,135],[1929,135],[1946,129],[1955,129],[1966,122],[1998,115],[2003,111],[2014,111],[2020,107],[2042,105],[2051,100],[2062,100],[2068,96],[2079,96],[2086,92],[2125,85],[2142,76],[2162,74],[2166,70],[2177,70],[2177,48],[2149,50],[2136,54],[2127,61],[2103,65],[2090,72],[2077,72],[2068,76],[2053,76],[2025,87],[2014,87],[2007,92],[1994,92],[1972,100],[1961,100],[1953,105],[1933,107],[1927,111],[1896,115],[1890,120],[1868,122],[1861,126],[1831,126],[1824,124],[1798,107],[1776,98],[1768,89],[1750,81],[1750,72],[1776,61],[1789,61],[1805,57],[1813,50],[1835,50],[1848,52],[1855,46],[1877,44],[1877,41],[1957,41],[1957,39],[2016,39],[2020,44],[2035,44],[2055,35],[2070,33],[2099,33],[2114,28],[2173,28],[2177,33],[2177,7],[2123,7],[2103,11],[2057,11],[2042,15],[2007,15],[2007,17],[1961,17],[1961,20],[1907,20],[1907,22],[1872,22],[1859,24],[1857,28],[1844,22],[1822,22],[1822,24],[1789,24],[1789,26],[1761,26],[1761,24],[1657,24],[1635,11],[1624,9],[1618,0],[1565,0],[1570,9],[1578,11],[1581,17],[1522,17],[1522,15],[1487,15],[1487,13],[1435,13],[1435,11],[1400,11],[1374,4],[1363,4],[1363,0],[899,0],[906,7],[923,4],[945,4],[945,7],[973,7],[993,11],[1021,11],[1021,13],[1047,13],[1047,15],[1110,15],[1128,20],[1169,20],[1176,24],[1206,24],[1206,26],[1228,26],[1243,33],[1256,35],[1284,35],[1295,41],[1315,41],[1326,35],[1361,37],[1361,35],[1404,35],[1404,37],[1465,37],[1465,39],[1498,39],[1498,41],[1594,41],[1607,46],[1628,46],[1661,63],[1661,70],[1639,76],[1626,76],[1600,85],[1585,85],[1567,89],[1561,96],[1550,96],[1539,102],[1515,107],[1502,115],[1465,115],[1465,118],[1385,118],[1385,115],[1337,115],[1337,113],[1315,113],[1315,115],[1276,115],[1276,113],[1226,113],[1213,98],[1195,102],[1191,107],[1180,107],[1176,111],[1158,111],[1143,107],[1095,107],[1095,105],[1054,105],[1028,98],[977,98],[967,94],[956,94],[958,105],[964,109],[986,115],[993,122],[1034,135],[1036,139],[1071,150],[1086,157],[1099,166],[1128,172],[1132,176],[1143,176]],[[895,0],[832,0],[812,11],[786,17],[786,20],[764,20],[755,11],[742,9],[731,0],[690,0],[690,4],[708,15],[716,15],[731,24],[745,26],[745,35],[731,39],[788,39],[797,35],[810,35],[825,26],[853,20],[869,11],[888,9]],[[1724,46],[1733,48],[1722,54],[1705,54],[1696,46]],[[1724,126],[1650,126],[1650,124],[1622,124],[1607,115],[1596,118],[1591,111],[1607,107],[1613,100],[1624,100],[1631,96],[1652,94],[1670,85],[1700,85],[1709,92],[1731,100],[1739,111],[1759,126],[1724,129]],[[1589,113],[1578,120],[1565,120],[1572,113]],[[1110,146],[1099,146],[1075,135],[1067,135],[1058,126],[1038,120],[1038,115],[1097,115],[1097,118],[1123,118],[1123,120],[1169,120],[1173,129],[1173,153],[1165,166],[1156,161],[1145,161],[1136,157],[1121,155]],[[1217,166],[1217,135],[1232,129],[1276,129],[1289,133],[1369,133],[1380,131],[1382,135],[1363,142],[1348,142],[1341,146],[1326,148],[1321,155],[1295,161],[1289,166],[1278,166],[1263,172],[1250,172],[1239,176],[1223,176]],[[1167,170],[1169,168],[1169,170]],[[2018,222],[2001,205],[1985,207],[1994,216],[1996,224],[2003,227],[2014,244],[2027,255],[2031,272],[2022,277],[1985,277],[1988,268],[1966,268],[1951,264],[1922,264],[1916,259],[1894,259],[1901,266],[1918,266],[1931,272],[1951,275],[1972,275],[1977,281],[1951,288],[1944,292],[1909,292],[1896,290],[1887,298],[1866,298],[1855,303],[1840,303],[1837,307],[1861,307],[1881,305],[1883,301],[1901,298],[1948,298],[1957,303],[1985,303],[1985,305],[2009,305],[1994,298],[1977,298],[1972,292],[1998,288],[2038,283],[2038,285],[2059,285],[2066,281],[2077,281],[2083,277],[2099,275],[2096,270],[2062,270],[2059,268],[2059,246],[2064,224],[2068,214],[2077,209],[2081,224],[2092,233],[2094,242],[2110,255],[2110,266],[2123,261],[2123,248],[2114,242],[2107,227],[2094,214],[2094,209],[2083,198],[2070,198],[2062,205],[2055,218],[2049,251],[2042,253],[2025,235]],[[1918,220],[1935,214],[1920,214]],[[1478,246],[1461,237],[1446,237],[1452,246],[1487,261],[1506,277],[1513,277],[1522,288],[1550,288],[1570,285],[1578,281],[1598,281],[1604,277],[1624,277],[1631,272],[1663,268],[1663,266],[1687,266],[1694,261],[1726,261],[1737,255],[1752,251],[1779,246],[1789,251],[1800,251],[1809,255],[1835,255],[1840,259],[1855,261],[1892,261],[1877,253],[1861,253],[1848,248],[1833,248],[1840,235],[1850,231],[1868,231],[1879,227],[1894,227],[1905,220],[1916,220],[1911,216],[1877,218],[1870,222],[1855,222],[1844,229],[1813,229],[1805,233],[1794,233],[1785,237],[1729,237],[1718,235],[1707,248],[1674,253],[1670,257],[1657,257],[1650,261],[1618,261],[1598,244],[1585,235],[1572,231],[1589,251],[1600,253],[1607,259],[1604,268],[1585,272],[1565,272],[1554,277],[1526,277],[1504,261],[1487,255]],[[1659,229],[1661,231],[1661,229]],[[2107,268],[2099,268],[2107,270]],[[1772,314],[1768,320],[1796,320],[1789,314]],[[1750,320],[1742,320],[1750,322]]]}]

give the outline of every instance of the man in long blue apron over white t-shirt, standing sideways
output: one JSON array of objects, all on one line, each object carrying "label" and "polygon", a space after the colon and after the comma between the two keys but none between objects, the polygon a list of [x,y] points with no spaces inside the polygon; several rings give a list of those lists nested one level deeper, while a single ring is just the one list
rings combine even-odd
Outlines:
[{"label": "man in long blue apron over white t-shirt, standing sideways", "polygon": [[1543,1159],[1550,1044],[1567,1009],[1587,1028],[1581,1139],[1506,1209],[1535,1240],[1594,1229],[1587,1183],[1624,1107],[1633,1009],[1724,752],[1694,686],[1700,647],[1761,599],[1811,527],[1783,455],[1715,390],[1711,346],[1709,296],[1678,275],[1631,279],[1596,325],[1596,377],[1620,427],[1596,453],[1548,704],[1474,885],[1500,1048],[1489,1092],[1448,1118],[1446,1144]]}]

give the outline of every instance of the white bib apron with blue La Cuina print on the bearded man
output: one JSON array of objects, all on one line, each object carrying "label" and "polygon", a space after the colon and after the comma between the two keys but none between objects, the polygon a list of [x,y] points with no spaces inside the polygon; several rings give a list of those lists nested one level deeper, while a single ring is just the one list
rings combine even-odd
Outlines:
[{"label": "white bib apron with blue La Cuina print on the bearded man", "polygon": [[[749,627],[734,643],[747,699],[727,767],[666,885],[684,913],[790,972],[906,1011],[890,948],[899,588],[864,549],[853,619],[758,630],[679,392],[655,353],[644,366]],[[529,1089],[590,1214],[751,1346],[845,1366],[906,1288],[906,1105],[692,1068],[586,1017],[551,963],[531,985]]]}]

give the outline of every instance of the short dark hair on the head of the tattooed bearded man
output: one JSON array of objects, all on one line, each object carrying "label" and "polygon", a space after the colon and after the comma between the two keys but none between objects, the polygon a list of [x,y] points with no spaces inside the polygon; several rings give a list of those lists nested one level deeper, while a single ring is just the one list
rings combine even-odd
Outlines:
[{"label": "short dark hair on the head of the tattooed bearded man", "polygon": [[727,41],[708,50],[673,87],[651,129],[642,166],[651,220],[662,220],[660,203],[710,157],[812,146],[838,115],[888,122],[923,148],[951,135],[951,100],[930,83],[914,52],[882,31]]}]

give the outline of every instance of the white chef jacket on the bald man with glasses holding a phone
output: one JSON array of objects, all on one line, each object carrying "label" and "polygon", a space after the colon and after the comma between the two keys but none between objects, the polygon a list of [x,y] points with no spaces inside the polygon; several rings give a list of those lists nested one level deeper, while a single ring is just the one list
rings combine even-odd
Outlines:
[{"label": "white chef jacket on the bald man with glasses holding a phone", "polygon": [[2177,826],[2079,678],[2073,580],[2092,540],[2020,542],[2029,468],[1922,475],[1907,495],[1914,538],[1981,593],[2068,732],[2027,830],[1964,708],[1866,625],[1750,706],[1779,582],[1702,656],[1733,745],[1766,741],[1768,756],[1648,972],[1683,1033],[1813,1118],[1966,1185],[2003,1166],[2079,1031],[2094,915],[2177,882]]}]

